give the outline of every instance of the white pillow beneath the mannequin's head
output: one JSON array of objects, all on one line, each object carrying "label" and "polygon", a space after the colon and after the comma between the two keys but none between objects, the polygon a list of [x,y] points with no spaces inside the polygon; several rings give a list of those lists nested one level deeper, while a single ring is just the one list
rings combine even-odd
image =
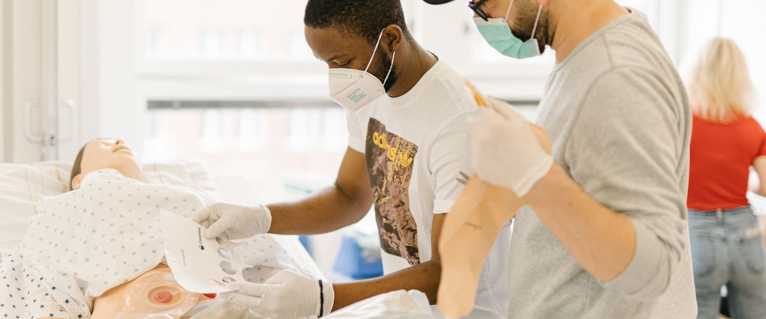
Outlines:
[{"label": "white pillow beneath the mannequin's head", "polygon": [[[149,163],[143,169],[146,183],[191,187],[213,200],[219,198],[216,184],[201,161]],[[21,242],[27,218],[37,213],[41,197],[69,190],[71,171],[72,163],[67,161],[0,163],[0,249],[13,249]]]}]

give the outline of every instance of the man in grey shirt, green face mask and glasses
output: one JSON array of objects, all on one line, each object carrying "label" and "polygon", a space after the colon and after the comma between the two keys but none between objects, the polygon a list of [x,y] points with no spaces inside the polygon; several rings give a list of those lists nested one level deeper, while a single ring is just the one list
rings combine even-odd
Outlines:
[{"label": "man in grey shirt, green face mask and glasses", "polygon": [[468,125],[478,176],[530,203],[511,240],[509,317],[696,317],[691,112],[646,16],[612,0],[470,7],[502,54],[556,51],[537,119],[552,155],[507,103],[492,99]]}]

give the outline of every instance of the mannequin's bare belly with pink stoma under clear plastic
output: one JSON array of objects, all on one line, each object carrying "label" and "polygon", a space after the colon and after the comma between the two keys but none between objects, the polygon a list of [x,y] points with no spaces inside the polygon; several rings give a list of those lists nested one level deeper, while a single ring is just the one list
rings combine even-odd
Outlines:
[{"label": "mannequin's bare belly with pink stoma under clear plastic", "polygon": [[[106,291],[93,306],[93,318],[179,319],[210,296],[185,290],[175,282],[166,265],[140,275],[138,278]],[[214,297],[214,296],[213,296]]]}]

